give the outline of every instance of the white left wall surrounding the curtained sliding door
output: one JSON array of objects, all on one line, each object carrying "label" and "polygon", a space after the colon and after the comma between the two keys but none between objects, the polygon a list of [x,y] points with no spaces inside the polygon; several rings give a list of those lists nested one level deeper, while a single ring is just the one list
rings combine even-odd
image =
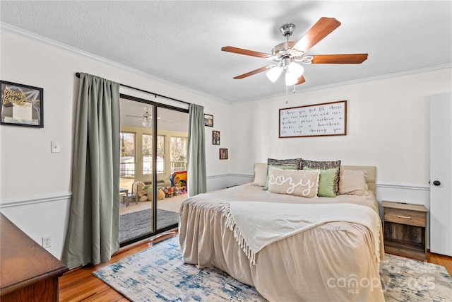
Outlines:
[{"label": "white left wall surrounding the curtained sliding door", "polygon": [[[71,201],[76,72],[203,105],[214,115],[215,127],[206,127],[207,141],[215,129],[221,132],[222,146],[229,144],[230,105],[222,100],[4,25],[0,39],[1,80],[44,88],[44,128],[0,126],[0,211],[37,243],[52,236],[49,252],[55,257],[61,257]],[[50,152],[51,141],[60,142],[60,153]],[[218,146],[207,146],[207,175],[227,174],[230,161],[220,162],[218,151],[213,152]]]}]

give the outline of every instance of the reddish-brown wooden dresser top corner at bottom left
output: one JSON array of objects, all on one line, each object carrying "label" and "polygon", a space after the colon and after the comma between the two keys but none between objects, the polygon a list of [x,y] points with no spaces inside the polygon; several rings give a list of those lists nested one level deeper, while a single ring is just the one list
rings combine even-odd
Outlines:
[{"label": "reddish-brown wooden dresser top corner at bottom left", "polygon": [[58,302],[68,268],[1,213],[0,232],[0,301]]}]

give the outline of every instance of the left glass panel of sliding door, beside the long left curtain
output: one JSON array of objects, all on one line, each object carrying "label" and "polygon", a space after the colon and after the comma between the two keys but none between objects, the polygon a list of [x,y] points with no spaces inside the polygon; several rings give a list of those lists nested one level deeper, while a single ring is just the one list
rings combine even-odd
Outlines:
[{"label": "left glass panel of sliding door, beside the long left curtain", "polygon": [[155,233],[153,226],[153,105],[120,99],[121,204],[119,243],[124,246]]}]

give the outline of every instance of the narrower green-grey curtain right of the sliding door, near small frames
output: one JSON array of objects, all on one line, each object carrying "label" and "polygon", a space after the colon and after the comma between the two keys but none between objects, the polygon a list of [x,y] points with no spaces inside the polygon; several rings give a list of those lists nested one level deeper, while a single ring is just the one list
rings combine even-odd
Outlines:
[{"label": "narrower green-grey curtain right of the sliding door, near small frames", "polygon": [[206,192],[206,134],[203,106],[189,106],[189,151],[187,185],[189,197]]}]

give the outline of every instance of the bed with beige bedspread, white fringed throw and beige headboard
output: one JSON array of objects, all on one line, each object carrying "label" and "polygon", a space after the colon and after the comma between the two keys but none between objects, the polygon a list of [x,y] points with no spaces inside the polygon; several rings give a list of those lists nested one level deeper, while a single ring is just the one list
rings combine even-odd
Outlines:
[{"label": "bed with beige bedspread, white fringed throw and beige headboard", "polygon": [[[255,171],[266,169],[267,182],[270,170],[288,173],[268,167],[255,164]],[[364,173],[363,192],[333,198],[275,194],[256,185],[256,175],[254,183],[186,199],[179,220],[184,262],[217,267],[255,286],[268,301],[384,301],[376,168],[340,165],[338,176],[345,171]],[[340,179],[343,187],[346,180]],[[311,224],[292,228],[298,215]],[[274,221],[285,224],[274,226]]]}]

